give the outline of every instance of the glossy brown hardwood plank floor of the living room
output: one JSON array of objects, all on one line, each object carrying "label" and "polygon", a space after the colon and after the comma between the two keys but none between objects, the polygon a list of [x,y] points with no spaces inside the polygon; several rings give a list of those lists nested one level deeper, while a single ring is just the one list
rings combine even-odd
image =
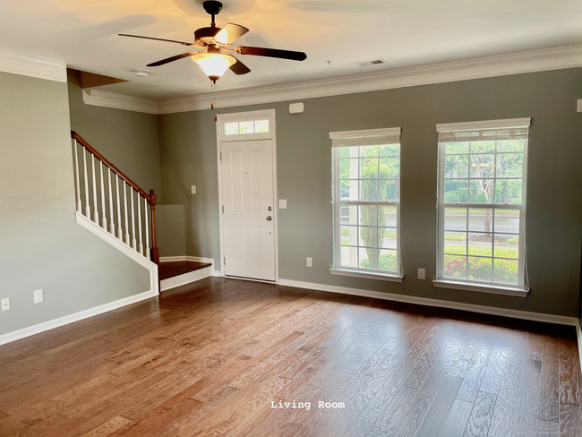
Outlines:
[{"label": "glossy brown hardwood plank floor of the living room", "polygon": [[0,435],[582,436],[575,335],[206,278],[0,347]]}]

